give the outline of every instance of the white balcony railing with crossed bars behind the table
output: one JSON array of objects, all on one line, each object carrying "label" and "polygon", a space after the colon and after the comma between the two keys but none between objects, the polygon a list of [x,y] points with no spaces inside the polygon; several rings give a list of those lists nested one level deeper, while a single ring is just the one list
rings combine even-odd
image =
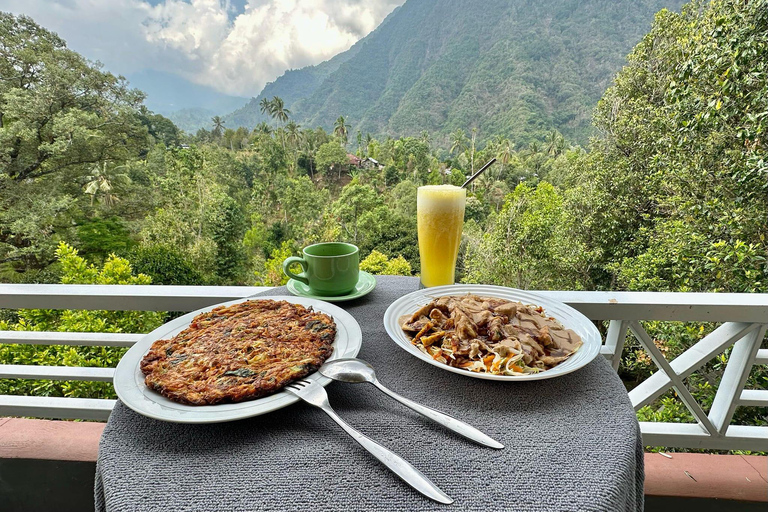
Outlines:
[{"label": "white balcony railing with crossed bars behind the table", "polygon": [[[253,295],[263,287],[0,285],[0,308],[192,311]],[[731,425],[739,406],[768,407],[768,390],[744,389],[754,365],[768,364],[761,344],[768,326],[768,295],[714,293],[538,292],[565,302],[592,320],[609,321],[603,355],[618,368],[627,333],[659,368],[630,393],[635,409],[669,389],[696,423],[641,422],[650,446],[768,451],[768,427]],[[711,334],[667,361],[641,320],[721,323]],[[0,331],[0,343],[128,347],[140,334]],[[707,414],[684,379],[729,347],[733,351]],[[0,378],[111,382],[110,368],[0,365]],[[114,400],[0,395],[0,416],[105,420]]]}]

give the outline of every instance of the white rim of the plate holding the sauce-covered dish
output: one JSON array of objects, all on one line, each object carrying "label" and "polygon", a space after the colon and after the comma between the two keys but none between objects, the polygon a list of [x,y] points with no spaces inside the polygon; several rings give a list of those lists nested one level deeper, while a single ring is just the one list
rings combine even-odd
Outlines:
[{"label": "white rim of the plate holding the sauce-covered dish", "polygon": [[[490,296],[496,296],[500,298],[509,298],[512,300],[519,300],[520,302],[523,302],[523,303],[541,305],[542,307],[544,307],[545,312],[549,311],[553,307],[554,309],[564,309],[570,315],[573,315],[576,318],[580,318],[580,320],[582,321],[582,326],[588,331],[587,333],[588,336],[586,337],[586,339],[585,339],[585,336],[583,335],[581,336],[582,340],[584,341],[584,344],[579,348],[579,350],[576,353],[586,354],[586,356],[582,356],[577,361],[577,363],[574,364],[572,367],[565,366],[560,368],[560,371],[554,371],[554,370],[558,370],[558,368],[560,367],[560,365],[558,365],[550,370],[543,371],[540,373],[534,373],[530,375],[494,375],[490,373],[470,372],[468,370],[464,370],[463,368],[454,368],[452,366],[448,366],[447,364],[441,363],[439,361],[435,361],[431,357],[421,352],[418,348],[416,348],[410,342],[410,340],[406,338],[405,334],[402,332],[402,329],[400,329],[399,325],[397,325],[397,318],[394,318],[394,316],[396,315],[395,311],[402,304],[406,302],[410,302],[414,299],[421,301],[422,299],[430,298],[430,296],[461,294],[461,293],[474,293],[476,295],[480,295],[483,292],[489,293]],[[520,298],[519,299],[514,298],[515,296]],[[530,300],[530,302],[526,302],[528,300]],[[426,304],[427,302],[428,302],[427,300],[424,300],[422,302],[422,305]],[[555,315],[552,315],[552,316],[555,316]],[[560,318],[557,318],[557,320],[562,322]],[[597,330],[597,327],[595,327],[595,325],[592,323],[592,321],[589,318],[587,318],[583,313],[581,313],[574,307],[569,306],[564,302],[561,302],[555,299],[550,299],[543,295],[539,295],[535,292],[529,292],[527,290],[519,290],[517,288],[509,288],[505,286],[497,286],[497,285],[490,285],[490,284],[453,284],[453,285],[445,285],[445,286],[435,286],[432,288],[424,288],[424,289],[413,291],[411,293],[403,295],[402,297],[392,302],[392,304],[390,304],[389,307],[387,307],[387,310],[384,312],[383,321],[384,321],[384,329],[386,330],[387,334],[392,339],[392,341],[401,349],[406,351],[408,354],[422,360],[425,363],[428,363],[428,364],[431,364],[432,366],[440,368],[442,370],[456,373],[458,375],[463,375],[465,377],[484,379],[484,380],[493,380],[497,382],[521,382],[521,381],[531,381],[531,380],[544,380],[544,379],[551,379],[551,378],[567,375],[569,373],[580,370],[584,366],[594,361],[595,358],[600,354],[600,348],[602,347],[602,344],[603,344],[602,336],[600,335],[600,332]],[[396,330],[394,326],[397,327]],[[565,327],[573,328],[573,326],[569,326],[569,325],[565,325]],[[564,363],[565,362],[567,361],[564,361]]]}]

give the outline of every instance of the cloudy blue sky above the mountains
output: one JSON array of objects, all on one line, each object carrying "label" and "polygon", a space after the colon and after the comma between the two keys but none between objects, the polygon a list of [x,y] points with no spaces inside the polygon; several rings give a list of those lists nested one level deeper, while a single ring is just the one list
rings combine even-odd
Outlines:
[{"label": "cloudy blue sky above the mountains", "polygon": [[113,73],[178,75],[256,96],[288,69],[318,64],[405,0],[0,0]]}]

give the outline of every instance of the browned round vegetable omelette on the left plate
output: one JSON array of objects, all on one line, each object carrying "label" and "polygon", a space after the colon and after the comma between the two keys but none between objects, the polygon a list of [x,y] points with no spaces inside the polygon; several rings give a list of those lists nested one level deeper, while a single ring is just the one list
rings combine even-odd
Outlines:
[{"label": "browned round vegetable omelette on the left plate", "polygon": [[141,361],[145,384],[188,405],[253,400],[319,368],[333,352],[336,324],[286,301],[249,300],[197,315]]}]

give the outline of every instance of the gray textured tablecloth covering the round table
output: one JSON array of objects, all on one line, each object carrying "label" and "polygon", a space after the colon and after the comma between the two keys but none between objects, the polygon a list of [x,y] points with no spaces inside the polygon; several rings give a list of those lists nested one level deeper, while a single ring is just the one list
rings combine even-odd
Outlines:
[{"label": "gray textured tablecloth covering the round table", "polygon": [[[642,510],[643,449],[635,413],[610,365],[498,383],[424,364],[384,332],[387,306],[414,278],[378,277],[367,297],[342,303],[360,323],[381,382],[474,424],[506,445],[473,444],[373,386],[334,382],[331,405],[455,499],[421,496],[325,414],[299,402],[246,420],[183,425],[118,403],[99,445],[98,511]],[[285,288],[270,295],[288,295]]]}]

